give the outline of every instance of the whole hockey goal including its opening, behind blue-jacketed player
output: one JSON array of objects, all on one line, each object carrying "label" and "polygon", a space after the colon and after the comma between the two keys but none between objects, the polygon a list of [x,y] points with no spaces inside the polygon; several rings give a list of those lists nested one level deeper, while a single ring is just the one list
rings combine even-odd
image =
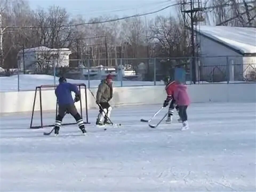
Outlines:
[{"label": "whole hockey goal including its opening, behind blue-jacketed player", "polygon": [[[81,115],[81,117],[84,120],[84,123],[90,124],[88,120],[88,108],[87,108],[87,92],[86,92],[86,85],[84,83],[77,83],[75,84],[78,87],[78,90],[81,94],[80,101],[75,103],[75,106],[77,107],[78,113]],[[49,122],[55,122],[55,118],[58,115],[58,100],[55,96],[55,88],[58,85],[41,85],[37,86],[35,88],[35,95],[34,95],[34,101],[33,101],[33,109],[31,114],[31,121],[30,121],[30,129],[39,129],[43,127],[53,127],[54,124]],[[39,94],[39,96],[38,96]],[[72,93],[73,98],[75,97],[75,94]],[[55,113],[53,115],[52,107],[55,106]],[[39,117],[38,115],[35,115],[39,111]],[[51,112],[50,112],[51,111]],[[83,114],[85,112],[85,118],[83,117]],[[46,121],[44,121],[44,116],[46,117]],[[63,121],[63,125],[75,125],[75,119],[70,115],[66,114],[64,119],[66,121]],[[37,123],[36,125],[33,125],[33,123]],[[39,125],[38,125],[39,124]]]}]

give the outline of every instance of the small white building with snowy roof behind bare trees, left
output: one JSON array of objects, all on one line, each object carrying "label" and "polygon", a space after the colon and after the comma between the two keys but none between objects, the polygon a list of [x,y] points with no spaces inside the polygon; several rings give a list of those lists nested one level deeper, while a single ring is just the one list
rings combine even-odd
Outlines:
[{"label": "small white building with snowy roof behind bare trees, left", "polygon": [[[70,49],[51,49],[49,47],[34,47],[24,50],[24,61],[26,70],[42,69],[47,67],[69,66]],[[24,69],[23,50],[19,51],[18,68]]]}]

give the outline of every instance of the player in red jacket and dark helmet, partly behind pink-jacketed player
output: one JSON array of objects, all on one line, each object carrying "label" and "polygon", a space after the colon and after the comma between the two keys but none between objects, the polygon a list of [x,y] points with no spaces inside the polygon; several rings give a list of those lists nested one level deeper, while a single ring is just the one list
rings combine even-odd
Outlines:
[{"label": "player in red jacket and dark helmet, partly behind pink-jacketed player", "polygon": [[[166,118],[166,122],[171,123],[173,121],[172,115],[174,113],[174,107],[175,107],[175,100],[173,98],[173,93],[176,89],[177,83],[175,81],[170,81],[170,77],[166,77],[164,82],[165,82],[165,85],[166,85],[165,90],[166,90],[166,93],[167,93],[167,97],[166,97],[166,99],[163,103],[163,107],[168,106],[168,104],[171,100],[169,110],[168,110],[168,116]],[[176,106],[175,108],[178,111],[178,106]]]}]

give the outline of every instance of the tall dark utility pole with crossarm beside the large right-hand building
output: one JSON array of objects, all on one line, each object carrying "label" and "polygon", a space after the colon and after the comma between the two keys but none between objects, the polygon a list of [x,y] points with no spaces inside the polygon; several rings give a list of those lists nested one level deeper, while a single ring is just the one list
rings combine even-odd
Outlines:
[{"label": "tall dark utility pole with crossarm beside the large right-hand building", "polygon": [[197,71],[195,66],[195,42],[194,42],[194,13],[197,13],[198,11],[203,11],[202,8],[198,7],[193,9],[194,3],[192,0],[190,0],[190,10],[183,10],[181,12],[190,14],[191,19],[191,44],[192,44],[192,81],[195,84],[197,81]]}]

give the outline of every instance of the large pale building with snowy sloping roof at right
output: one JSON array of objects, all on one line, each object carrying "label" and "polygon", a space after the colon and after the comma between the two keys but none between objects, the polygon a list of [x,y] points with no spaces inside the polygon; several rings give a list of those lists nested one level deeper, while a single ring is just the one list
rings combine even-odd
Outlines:
[{"label": "large pale building with snowy sloping roof at right", "polygon": [[[197,26],[200,79],[251,81],[256,74],[256,28]],[[215,79],[213,79],[215,78]]]}]

